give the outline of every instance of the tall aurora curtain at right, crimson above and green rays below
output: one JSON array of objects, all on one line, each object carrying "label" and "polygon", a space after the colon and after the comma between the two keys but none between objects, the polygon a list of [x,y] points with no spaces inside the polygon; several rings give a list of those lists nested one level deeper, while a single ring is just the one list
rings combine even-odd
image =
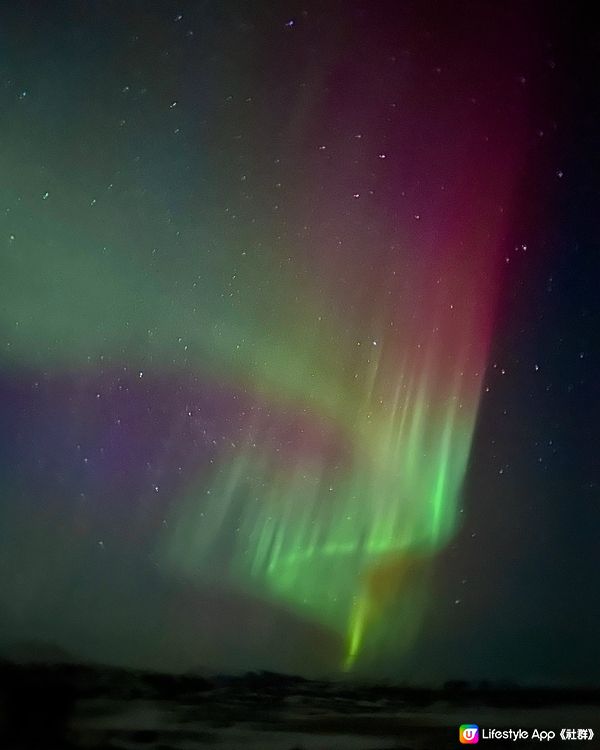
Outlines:
[{"label": "tall aurora curtain at right, crimson above and green rays below", "polygon": [[389,111],[383,88],[381,101],[359,103],[352,84],[325,97],[328,128],[309,108],[334,135],[313,145],[296,193],[298,226],[312,227],[286,249],[299,304],[273,308],[274,356],[243,378],[292,423],[320,415],[344,448],[301,437],[280,455],[249,418],[208,488],[178,505],[165,551],[179,571],[218,570],[339,633],[346,669],[410,647],[431,561],[457,529],[519,140],[493,109],[462,127],[451,98],[432,118],[420,93],[402,102],[410,129],[379,132],[391,153],[369,149],[358,127]]}]

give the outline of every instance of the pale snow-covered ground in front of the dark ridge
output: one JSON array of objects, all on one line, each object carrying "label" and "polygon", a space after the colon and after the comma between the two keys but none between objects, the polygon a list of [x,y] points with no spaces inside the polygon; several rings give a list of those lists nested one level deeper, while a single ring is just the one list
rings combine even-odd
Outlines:
[{"label": "pale snow-covered ground in front of the dark ridge", "polygon": [[[325,706],[321,700],[319,705],[311,705],[298,700],[299,696],[289,696],[272,713],[268,706],[260,706],[255,716],[248,706],[228,706],[221,698],[214,703],[215,715],[211,717],[207,702],[213,698],[203,696],[202,716],[197,718],[193,717],[197,707],[189,704],[143,700],[96,705],[95,715],[80,716],[73,729],[81,747],[107,743],[106,747],[115,750],[211,746],[220,750],[443,750],[457,746],[458,727],[463,723],[495,728],[587,728],[598,726],[599,715],[597,706],[526,709],[436,704],[397,710],[377,706],[368,711],[365,702],[354,710],[344,702],[343,711],[336,712],[333,705]],[[502,744],[495,742],[494,746],[501,748]]]}]

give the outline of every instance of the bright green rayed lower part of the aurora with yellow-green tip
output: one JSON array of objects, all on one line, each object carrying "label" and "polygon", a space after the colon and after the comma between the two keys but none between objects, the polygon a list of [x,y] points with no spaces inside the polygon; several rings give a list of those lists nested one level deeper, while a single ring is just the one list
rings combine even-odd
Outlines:
[{"label": "bright green rayed lower part of the aurora with yellow-green tip", "polygon": [[202,501],[198,488],[178,508],[177,564],[198,571],[229,548],[234,582],[346,631],[350,666],[411,561],[455,529],[477,395],[465,407],[460,383],[432,394],[427,377],[417,369],[393,391],[375,385],[351,416],[345,405],[350,466],[318,455],[279,461],[254,441],[235,449]]}]

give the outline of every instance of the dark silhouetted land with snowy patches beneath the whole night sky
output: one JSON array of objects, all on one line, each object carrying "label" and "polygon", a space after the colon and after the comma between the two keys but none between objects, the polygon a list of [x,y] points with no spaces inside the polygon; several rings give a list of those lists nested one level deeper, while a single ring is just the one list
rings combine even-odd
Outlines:
[{"label": "dark silhouetted land with snowy patches beneath the whole night sky", "polygon": [[458,746],[461,723],[593,727],[600,690],[462,681],[433,689],[271,672],[207,678],[2,662],[0,712],[6,750],[444,750]]}]

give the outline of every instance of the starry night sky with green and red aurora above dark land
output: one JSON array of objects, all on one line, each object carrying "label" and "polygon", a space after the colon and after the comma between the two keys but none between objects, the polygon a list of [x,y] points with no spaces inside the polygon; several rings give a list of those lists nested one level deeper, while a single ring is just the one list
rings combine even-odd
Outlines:
[{"label": "starry night sky with green and red aurora above dark land", "polygon": [[0,652],[598,683],[583,4],[47,6],[0,10]]}]

